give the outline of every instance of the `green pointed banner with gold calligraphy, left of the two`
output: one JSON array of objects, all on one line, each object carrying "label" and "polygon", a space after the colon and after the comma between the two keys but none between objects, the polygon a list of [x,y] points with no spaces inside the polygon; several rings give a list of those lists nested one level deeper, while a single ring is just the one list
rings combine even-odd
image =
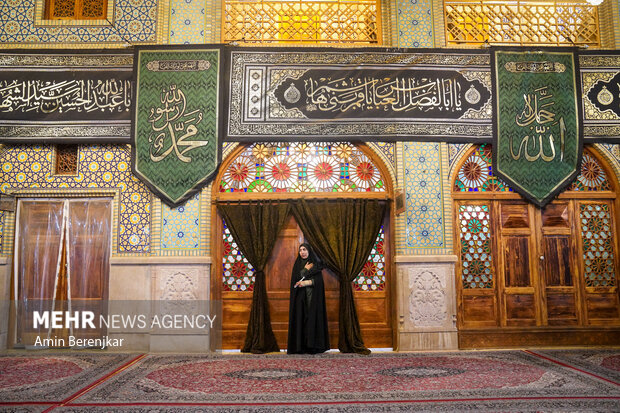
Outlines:
[{"label": "green pointed banner with gold calligraphy, left of the two", "polygon": [[221,48],[136,50],[134,173],[176,206],[209,182],[221,152]]}]

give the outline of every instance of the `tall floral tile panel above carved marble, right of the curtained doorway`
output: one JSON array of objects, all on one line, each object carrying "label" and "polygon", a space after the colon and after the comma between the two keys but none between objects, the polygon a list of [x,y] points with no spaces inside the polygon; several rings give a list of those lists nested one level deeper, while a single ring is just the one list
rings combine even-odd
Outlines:
[{"label": "tall floral tile panel above carved marble, right of the curtained doorway", "polygon": [[442,156],[439,143],[406,142],[403,153],[405,245],[445,248]]}]

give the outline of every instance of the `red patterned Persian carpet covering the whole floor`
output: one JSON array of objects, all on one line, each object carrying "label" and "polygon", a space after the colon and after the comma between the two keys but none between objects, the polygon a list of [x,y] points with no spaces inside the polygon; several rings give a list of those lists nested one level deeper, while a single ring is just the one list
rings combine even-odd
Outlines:
[{"label": "red patterned Persian carpet covering the whole floor", "polygon": [[[0,411],[612,412],[620,349],[0,356]],[[34,373],[33,373],[34,372]]]}]

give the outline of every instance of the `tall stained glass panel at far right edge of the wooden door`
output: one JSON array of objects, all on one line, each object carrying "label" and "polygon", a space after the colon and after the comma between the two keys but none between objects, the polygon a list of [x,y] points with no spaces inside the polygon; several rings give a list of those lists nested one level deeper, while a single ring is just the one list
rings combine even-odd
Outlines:
[{"label": "tall stained glass panel at far right edge of the wooden door", "polygon": [[579,205],[586,287],[616,285],[610,211],[606,203]]}]

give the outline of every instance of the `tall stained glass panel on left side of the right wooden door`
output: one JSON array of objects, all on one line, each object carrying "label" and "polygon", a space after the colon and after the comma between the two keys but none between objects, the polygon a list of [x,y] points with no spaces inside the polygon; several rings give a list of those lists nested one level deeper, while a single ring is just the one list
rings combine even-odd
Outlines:
[{"label": "tall stained glass panel on left side of the right wooden door", "polygon": [[489,205],[460,205],[463,288],[493,288]]}]

